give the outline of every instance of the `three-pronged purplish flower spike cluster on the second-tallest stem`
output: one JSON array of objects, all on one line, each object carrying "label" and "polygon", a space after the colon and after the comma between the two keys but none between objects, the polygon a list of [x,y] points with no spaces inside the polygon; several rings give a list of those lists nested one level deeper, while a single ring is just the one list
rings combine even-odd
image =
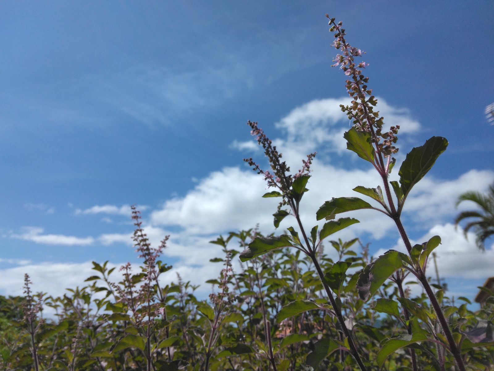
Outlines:
[{"label": "three-pronged purplish flower spike cluster on the second-tallest stem", "polygon": [[309,173],[310,165],[317,152],[308,154],[307,160],[302,160],[302,169],[300,169],[298,173],[290,175],[288,174],[290,171],[289,166],[287,166],[285,161],[280,161],[282,153],[278,152],[276,146],[273,145],[272,140],[266,137],[266,134],[264,134],[262,129],[257,126],[256,122],[247,121],[247,125],[250,126],[251,129],[250,134],[256,137],[257,142],[264,149],[264,154],[268,157],[273,173],[268,170],[263,171],[261,167],[252,160],[252,157],[244,158],[244,161],[247,162],[249,166],[252,166],[252,170],[256,171],[257,174],[262,174],[264,176],[264,180],[268,183],[268,188],[275,187],[282,192],[284,197],[283,201],[278,206],[278,209],[280,209],[283,205],[287,205],[288,203],[287,197],[289,197],[293,181],[298,177]]}]

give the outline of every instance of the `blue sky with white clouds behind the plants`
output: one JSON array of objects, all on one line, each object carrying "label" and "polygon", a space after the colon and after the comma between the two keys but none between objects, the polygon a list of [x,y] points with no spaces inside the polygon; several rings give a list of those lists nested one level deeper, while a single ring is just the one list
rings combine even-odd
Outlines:
[{"label": "blue sky with white clouds behind the plants", "polygon": [[[325,200],[377,185],[343,149],[345,77],[330,68],[328,12],[367,51],[385,122],[402,123],[398,161],[433,135],[449,139],[405,219],[420,242],[431,231],[451,239],[438,250],[441,274],[453,293],[474,296],[492,274],[482,266],[494,261],[492,241],[479,254],[451,223],[455,197],[494,180],[494,128],[484,115],[494,101],[493,8],[492,1],[1,2],[0,294],[20,293],[24,272],[35,289],[60,294],[82,283],[91,260],[137,262],[131,204],[153,241],[171,234],[169,279],[175,271],[198,283],[214,277],[219,268],[205,263],[218,255],[211,237],[256,223],[273,231],[276,203],[260,198],[262,179],[242,162],[263,157],[248,119],[277,140],[292,169],[318,150],[309,228]],[[342,238],[361,236],[374,253],[399,247],[388,221],[359,218]]]}]

